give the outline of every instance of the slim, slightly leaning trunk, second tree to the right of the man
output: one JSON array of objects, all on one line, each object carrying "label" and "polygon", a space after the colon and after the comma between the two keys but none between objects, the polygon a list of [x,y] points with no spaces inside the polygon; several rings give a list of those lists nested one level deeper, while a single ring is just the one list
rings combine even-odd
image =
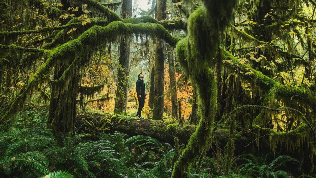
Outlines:
[{"label": "slim, slightly leaning trunk, second tree to the right of the man", "polygon": [[[177,82],[176,82],[176,72],[174,66],[173,49],[169,46],[168,50],[168,64],[169,64],[169,78],[170,78],[170,94],[171,94],[171,106],[172,106],[172,117],[179,120],[179,110],[178,110],[178,94],[177,94]],[[180,118],[181,119],[181,118]]]}]

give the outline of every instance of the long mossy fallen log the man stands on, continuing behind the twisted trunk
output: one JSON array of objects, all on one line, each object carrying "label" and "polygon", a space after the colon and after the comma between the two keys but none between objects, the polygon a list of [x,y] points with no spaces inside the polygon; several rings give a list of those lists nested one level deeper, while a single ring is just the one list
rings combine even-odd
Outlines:
[{"label": "long mossy fallen log the man stands on, continuing behind the twisted trunk", "polygon": [[[178,127],[178,123],[169,123],[149,119],[141,120],[139,118],[133,118],[130,116],[102,112],[80,113],[78,114],[76,121],[76,128],[82,130],[85,133],[113,133],[115,131],[119,131],[121,133],[127,134],[130,137],[135,135],[150,136],[160,140],[163,143],[170,143],[172,145],[176,135],[179,138],[180,145],[187,144],[191,134],[195,130],[195,127],[195,125],[190,124],[183,124],[183,127]],[[270,135],[277,134],[276,131],[268,128],[260,128],[259,126],[256,126],[253,130],[248,129],[244,132],[235,132],[234,154],[237,156],[246,151],[247,153],[255,154],[274,152],[276,155],[290,155],[300,160],[300,167],[303,172],[308,172],[314,165],[311,162],[316,162],[314,157],[309,157],[311,153],[310,149],[313,149],[313,147],[310,147],[308,144],[306,144],[305,141],[303,141],[305,139],[301,139],[301,143],[297,144],[299,149],[288,149],[289,144],[291,143],[283,143],[287,141],[287,135],[291,135],[292,132],[300,132],[299,130],[301,129],[305,129],[304,125],[301,125],[301,127],[289,132],[279,133],[280,138],[278,140],[269,139]],[[306,127],[306,129],[308,128]],[[307,133],[309,132],[307,131],[298,134],[298,137]],[[228,142],[229,130],[216,128],[214,129],[213,135],[213,149],[208,151],[207,154],[209,156],[214,156],[217,148],[224,150],[225,145]],[[291,137],[293,138],[293,136]],[[258,145],[259,142],[260,145]]]}]

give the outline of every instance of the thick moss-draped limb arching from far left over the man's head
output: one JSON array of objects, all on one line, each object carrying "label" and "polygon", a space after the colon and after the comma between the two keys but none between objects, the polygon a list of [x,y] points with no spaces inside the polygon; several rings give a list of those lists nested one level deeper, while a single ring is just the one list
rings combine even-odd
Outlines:
[{"label": "thick moss-draped limb arching from far left over the man's head", "polygon": [[[57,48],[54,48],[52,50],[46,50],[44,52],[44,55],[47,57],[46,62],[42,64],[33,74],[33,76],[28,80],[27,90],[23,92],[22,95],[25,96],[27,92],[31,92],[33,91],[33,89],[37,88],[38,84],[41,82],[41,79],[43,79],[46,74],[49,73],[50,69],[53,67],[56,61],[65,59],[74,60],[82,51],[88,50],[86,51],[88,54],[100,44],[117,42],[121,35],[136,35],[136,39],[144,39],[146,37],[163,39],[172,46],[175,46],[176,43],[179,41],[179,38],[171,36],[168,30],[163,28],[163,26],[160,24],[129,24],[120,21],[114,21],[106,27],[95,25],[89,30],[85,31],[75,40],[64,43],[63,45],[58,46]],[[80,65],[84,65],[84,63],[81,63]],[[13,113],[11,113],[11,109],[9,109],[2,116],[1,120]]]}]

